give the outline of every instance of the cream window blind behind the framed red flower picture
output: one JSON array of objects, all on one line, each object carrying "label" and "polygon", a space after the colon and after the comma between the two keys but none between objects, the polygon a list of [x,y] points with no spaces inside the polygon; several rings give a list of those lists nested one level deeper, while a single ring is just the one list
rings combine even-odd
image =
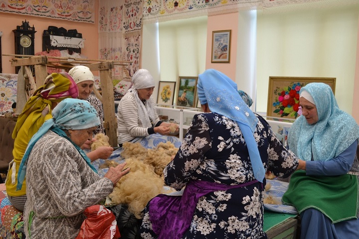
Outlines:
[{"label": "cream window blind behind the framed red flower picture", "polygon": [[351,114],[358,12],[358,4],[258,12],[256,111],[267,111],[269,76],[335,77],[338,105]]}]

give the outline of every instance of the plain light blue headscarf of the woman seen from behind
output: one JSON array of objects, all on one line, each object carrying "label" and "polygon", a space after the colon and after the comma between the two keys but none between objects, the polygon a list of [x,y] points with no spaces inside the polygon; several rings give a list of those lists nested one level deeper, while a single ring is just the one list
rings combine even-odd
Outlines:
[{"label": "plain light blue headscarf of the woman seen from behind", "polygon": [[247,144],[254,177],[263,182],[265,170],[253,136],[258,119],[238,94],[237,84],[214,69],[204,71],[198,78],[197,93],[200,104],[208,103],[211,112],[238,123]]}]

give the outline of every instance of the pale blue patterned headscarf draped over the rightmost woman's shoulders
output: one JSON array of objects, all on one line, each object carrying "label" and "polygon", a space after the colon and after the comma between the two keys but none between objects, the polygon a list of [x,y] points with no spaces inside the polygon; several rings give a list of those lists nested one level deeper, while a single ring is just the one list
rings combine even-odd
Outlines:
[{"label": "pale blue patterned headscarf draped over the rightmost woman's shoulders", "polygon": [[318,112],[318,122],[309,124],[302,115],[288,132],[289,149],[299,158],[310,161],[327,161],[359,138],[359,126],[352,116],[341,111],[332,89],[325,83],[310,83],[300,90],[313,98]]}]

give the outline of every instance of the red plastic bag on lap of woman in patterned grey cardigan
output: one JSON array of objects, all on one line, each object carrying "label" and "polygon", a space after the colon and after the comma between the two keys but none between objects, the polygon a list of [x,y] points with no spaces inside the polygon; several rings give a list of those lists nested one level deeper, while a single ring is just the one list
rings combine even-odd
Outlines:
[{"label": "red plastic bag on lap of woman in patterned grey cardigan", "polygon": [[86,208],[85,221],[76,239],[119,239],[115,215],[102,205]]}]

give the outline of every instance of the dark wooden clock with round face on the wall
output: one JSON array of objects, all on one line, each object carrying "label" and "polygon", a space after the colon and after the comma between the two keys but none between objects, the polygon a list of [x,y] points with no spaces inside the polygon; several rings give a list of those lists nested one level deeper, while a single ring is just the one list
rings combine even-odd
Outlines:
[{"label": "dark wooden clock with round face on the wall", "polygon": [[[16,26],[12,30],[15,35],[15,54],[17,55],[35,55],[35,27],[30,27],[28,21],[22,21],[21,26]],[[15,67],[15,73],[18,73],[20,67]]]}]

